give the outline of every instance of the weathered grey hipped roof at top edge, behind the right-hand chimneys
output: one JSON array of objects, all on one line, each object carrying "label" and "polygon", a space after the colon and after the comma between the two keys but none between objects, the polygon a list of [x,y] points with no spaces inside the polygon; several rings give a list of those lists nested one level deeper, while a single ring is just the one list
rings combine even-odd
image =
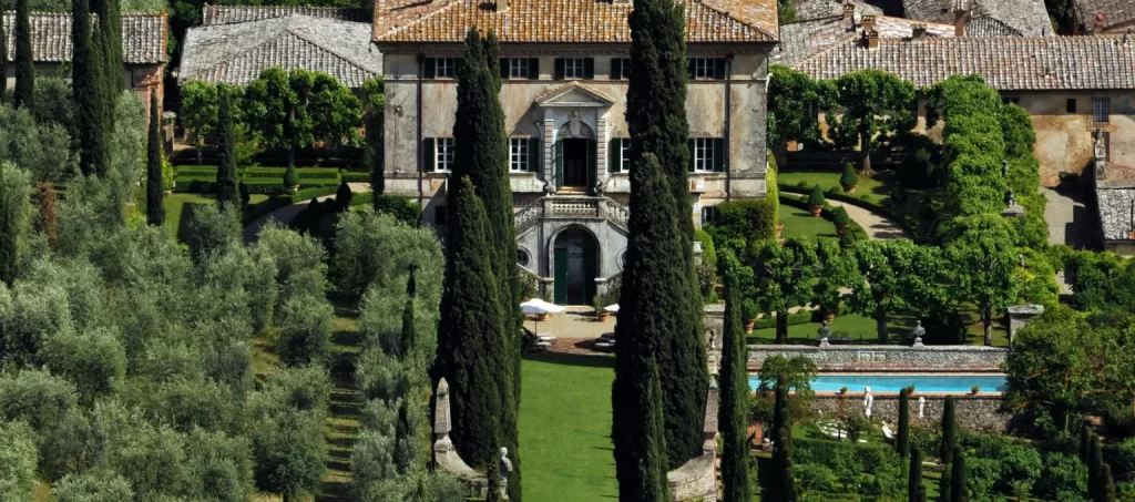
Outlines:
[{"label": "weathered grey hipped roof at top edge, behind the right-hand chimneys", "polygon": [[[902,0],[908,18],[953,24],[958,0]],[[1052,23],[1049,20],[1044,0],[962,0],[969,11],[967,36],[1050,36]],[[992,31],[995,26],[981,24],[980,19],[999,22],[1004,31]],[[973,33],[968,25],[978,23]]]}]

